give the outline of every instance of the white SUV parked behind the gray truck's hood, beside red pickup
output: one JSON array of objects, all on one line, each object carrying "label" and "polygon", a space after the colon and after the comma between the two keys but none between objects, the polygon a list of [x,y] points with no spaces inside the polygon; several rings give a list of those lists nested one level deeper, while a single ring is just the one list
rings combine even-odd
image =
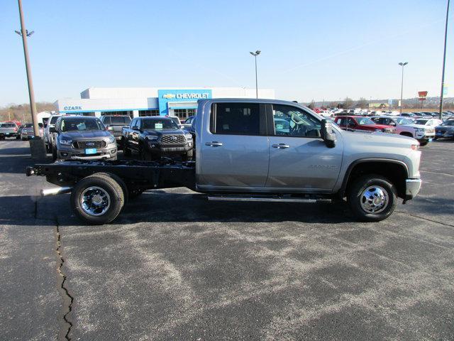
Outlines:
[{"label": "white SUV parked behind the gray truck's hood, beside red pickup", "polygon": [[419,141],[421,146],[426,146],[435,137],[435,126],[415,124],[407,117],[375,116],[372,121],[385,126],[395,126],[396,134],[410,136]]}]

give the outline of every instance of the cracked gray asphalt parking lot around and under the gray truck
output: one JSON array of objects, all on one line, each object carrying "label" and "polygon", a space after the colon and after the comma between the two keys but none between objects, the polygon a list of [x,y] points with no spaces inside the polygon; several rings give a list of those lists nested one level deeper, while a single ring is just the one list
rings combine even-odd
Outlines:
[{"label": "cracked gray asphalt parking lot around and under the gray truck", "polygon": [[144,193],[83,226],[0,141],[1,340],[453,340],[454,142],[383,222],[343,205]]}]

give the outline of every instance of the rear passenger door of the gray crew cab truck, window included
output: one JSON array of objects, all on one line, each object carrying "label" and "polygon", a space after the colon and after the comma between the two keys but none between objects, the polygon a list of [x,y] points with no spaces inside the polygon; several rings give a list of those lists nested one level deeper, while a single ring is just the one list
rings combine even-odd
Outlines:
[{"label": "rear passenger door of the gray crew cab truck, window included", "polygon": [[251,191],[265,187],[269,153],[264,104],[215,102],[203,121],[197,118],[197,124],[203,124],[197,146],[201,148],[197,188]]}]

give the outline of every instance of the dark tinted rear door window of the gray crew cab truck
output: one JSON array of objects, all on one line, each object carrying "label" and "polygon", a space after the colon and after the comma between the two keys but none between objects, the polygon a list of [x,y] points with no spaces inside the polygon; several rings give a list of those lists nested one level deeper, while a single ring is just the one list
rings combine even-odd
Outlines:
[{"label": "dark tinted rear door window of the gray crew cab truck", "polygon": [[213,134],[260,135],[260,106],[256,103],[216,103],[210,120]]}]

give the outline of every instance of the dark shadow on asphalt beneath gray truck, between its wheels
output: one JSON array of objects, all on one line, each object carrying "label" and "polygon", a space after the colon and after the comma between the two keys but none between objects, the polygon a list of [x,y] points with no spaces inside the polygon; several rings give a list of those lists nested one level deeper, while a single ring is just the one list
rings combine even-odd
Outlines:
[{"label": "dark shadow on asphalt beneath gray truck, between its wheels", "polygon": [[347,205],[294,202],[210,202],[206,195],[144,193],[114,224],[132,222],[353,222]]}]

